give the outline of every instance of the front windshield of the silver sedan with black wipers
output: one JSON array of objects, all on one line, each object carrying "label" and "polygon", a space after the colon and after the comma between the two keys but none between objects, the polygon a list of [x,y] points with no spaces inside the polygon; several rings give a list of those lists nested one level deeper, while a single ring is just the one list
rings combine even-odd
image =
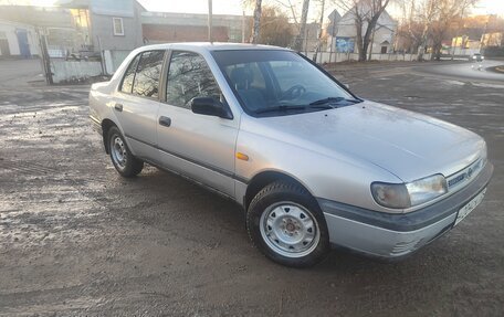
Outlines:
[{"label": "front windshield of the silver sedan with black wipers", "polygon": [[280,116],[360,102],[290,51],[214,51],[213,56],[248,114]]}]

